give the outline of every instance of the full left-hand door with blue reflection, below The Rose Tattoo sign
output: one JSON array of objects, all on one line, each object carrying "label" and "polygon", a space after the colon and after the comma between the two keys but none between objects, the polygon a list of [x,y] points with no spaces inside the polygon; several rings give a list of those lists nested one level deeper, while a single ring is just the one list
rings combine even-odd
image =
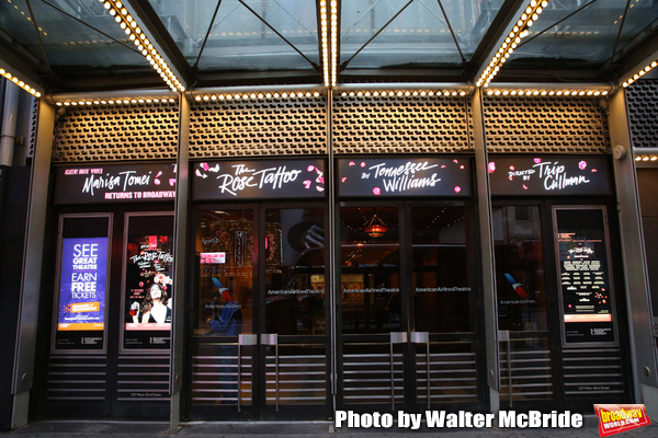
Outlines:
[{"label": "full left-hand door with blue reflection, below The Rose Tattoo sign", "polygon": [[201,211],[192,353],[193,405],[249,412],[253,393],[252,209]]}]

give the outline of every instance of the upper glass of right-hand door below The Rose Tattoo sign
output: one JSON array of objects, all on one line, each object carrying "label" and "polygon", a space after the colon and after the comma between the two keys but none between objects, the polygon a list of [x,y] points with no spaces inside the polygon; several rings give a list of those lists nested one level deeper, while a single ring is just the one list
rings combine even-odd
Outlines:
[{"label": "upper glass of right-hand door below The Rose Tattoo sign", "polygon": [[325,210],[265,211],[265,332],[325,333]]}]

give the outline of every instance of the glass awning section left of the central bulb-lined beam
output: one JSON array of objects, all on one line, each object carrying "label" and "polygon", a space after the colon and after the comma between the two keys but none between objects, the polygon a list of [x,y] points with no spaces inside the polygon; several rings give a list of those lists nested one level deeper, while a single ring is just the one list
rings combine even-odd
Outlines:
[{"label": "glass awning section left of the central bulb-lined beam", "polygon": [[149,1],[190,66],[200,71],[320,65],[314,1]]}]

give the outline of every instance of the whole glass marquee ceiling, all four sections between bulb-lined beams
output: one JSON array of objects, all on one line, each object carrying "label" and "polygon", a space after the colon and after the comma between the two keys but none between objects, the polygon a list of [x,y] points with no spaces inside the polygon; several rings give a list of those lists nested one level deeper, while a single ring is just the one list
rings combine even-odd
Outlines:
[{"label": "whole glass marquee ceiling, all four sections between bulb-lined beams", "polygon": [[[322,84],[320,0],[123,3],[188,90]],[[527,3],[338,1],[338,85],[475,83]],[[616,82],[656,54],[658,0],[549,0],[492,83]],[[0,0],[0,64],[47,92],[167,88],[99,0]]]}]

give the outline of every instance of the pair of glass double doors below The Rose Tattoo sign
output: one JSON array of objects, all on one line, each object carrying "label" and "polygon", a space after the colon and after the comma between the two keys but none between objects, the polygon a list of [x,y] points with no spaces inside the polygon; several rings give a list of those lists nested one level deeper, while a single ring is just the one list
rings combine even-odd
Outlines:
[{"label": "pair of glass double doors below The Rose Tattoo sign", "polygon": [[326,208],[197,214],[191,416],[326,418]]}]

